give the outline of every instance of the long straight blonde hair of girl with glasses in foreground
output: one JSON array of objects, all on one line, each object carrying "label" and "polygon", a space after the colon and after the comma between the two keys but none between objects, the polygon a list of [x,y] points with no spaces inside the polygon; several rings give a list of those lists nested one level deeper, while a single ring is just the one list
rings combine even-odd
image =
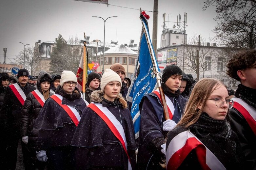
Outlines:
[{"label": "long straight blonde hair of girl with glasses in foreground", "polygon": [[[207,99],[212,91],[219,88],[221,85],[224,84],[217,79],[203,78],[199,80],[191,92],[191,96],[189,97],[185,108],[184,116],[178,122],[177,126],[187,128],[197,122],[203,112],[203,108],[206,105],[207,100],[204,99]],[[203,104],[202,109],[199,110],[198,106],[200,103]]]}]

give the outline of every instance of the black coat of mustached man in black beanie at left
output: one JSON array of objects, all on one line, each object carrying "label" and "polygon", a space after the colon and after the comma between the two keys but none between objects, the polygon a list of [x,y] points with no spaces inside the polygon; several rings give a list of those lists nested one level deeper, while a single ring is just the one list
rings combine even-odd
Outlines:
[{"label": "black coat of mustached man in black beanie at left", "polygon": [[[18,83],[20,86],[20,84]],[[24,94],[28,96],[31,91],[35,90],[35,87],[26,84],[26,86],[22,87]],[[18,100],[18,98],[14,95],[10,86],[6,88],[5,97],[3,101],[2,107],[2,122],[5,130],[11,135],[20,135],[20,121],[21,121],[21,110],[22,104]]]}]

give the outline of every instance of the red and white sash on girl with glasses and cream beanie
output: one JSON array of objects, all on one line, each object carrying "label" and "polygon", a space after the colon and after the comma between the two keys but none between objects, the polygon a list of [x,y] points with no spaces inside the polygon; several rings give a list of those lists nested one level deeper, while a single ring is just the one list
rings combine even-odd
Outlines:
[{"label": "red and white sash on girl with glasses and cream beanie", "polygon": [[54,94],[50,98],[52,98],[54,101],[56,101],[60,107],[62,107],[65,112],[69,115],[69,117],[72,119],[72,121],[75,123],[76,127],[81,119],[81,116],[79,115],[78,111],[69,105],[62,104],[63,97],[59,94]]}]

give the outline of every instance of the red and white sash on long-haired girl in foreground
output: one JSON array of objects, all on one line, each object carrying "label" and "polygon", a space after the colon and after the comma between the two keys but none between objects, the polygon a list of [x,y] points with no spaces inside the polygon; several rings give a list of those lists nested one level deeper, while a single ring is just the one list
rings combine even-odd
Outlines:
[{"label": "red and white sash on long-haired girl in foreground", "polygon": [[204,170],[225,170],[218,158],[190,131],[175,136],[167,147],[167,170],[177,169],[192,149],[196,150],[197,158]]}]

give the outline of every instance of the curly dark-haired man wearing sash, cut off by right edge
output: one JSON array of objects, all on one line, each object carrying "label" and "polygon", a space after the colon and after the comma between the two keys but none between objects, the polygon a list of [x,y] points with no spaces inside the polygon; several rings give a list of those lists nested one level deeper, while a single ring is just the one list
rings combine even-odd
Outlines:
[{"label": "curly dark-haired man wearing sash, cut off by right edge", "polygon": [[235,54],[227,68],[227,74],[241,82],[229,109],[230,125],[246,157],[244,169],[256,169],[256,50]]}]

